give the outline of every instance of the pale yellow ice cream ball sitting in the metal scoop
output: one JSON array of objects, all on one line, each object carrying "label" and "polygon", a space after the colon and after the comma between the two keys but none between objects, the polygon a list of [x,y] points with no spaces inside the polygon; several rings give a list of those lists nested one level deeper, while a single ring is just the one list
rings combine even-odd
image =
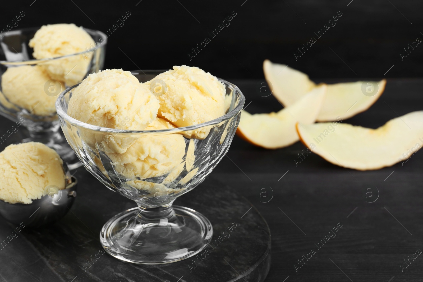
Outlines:
[{"label": "pale yellow ice cream ball sitting in the metal scoop", "polygon": [[0,152],[0,175],[0,199],[12,204],[30,204],[50,192],[50,185],[65,188],[62,159],[38,142],[9,145]]}]

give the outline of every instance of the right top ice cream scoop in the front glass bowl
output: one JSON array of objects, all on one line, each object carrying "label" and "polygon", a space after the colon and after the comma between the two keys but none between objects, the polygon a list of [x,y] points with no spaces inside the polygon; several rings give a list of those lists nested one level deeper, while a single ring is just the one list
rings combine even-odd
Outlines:
[{"label": "right top ice cream scoop in the front glass bowl", "polygon": [[[161,85],[161,81],[165,85]],[[157,75],[145,85],[153,90],[156,87],[167,88],[163,95],[158,95],[158,116],[177,127],[203,123],[225,114],[225,85],[200,68],[174,66],[172,70]],[[209,130],[203,128],[184,135],[203,139]]]}]

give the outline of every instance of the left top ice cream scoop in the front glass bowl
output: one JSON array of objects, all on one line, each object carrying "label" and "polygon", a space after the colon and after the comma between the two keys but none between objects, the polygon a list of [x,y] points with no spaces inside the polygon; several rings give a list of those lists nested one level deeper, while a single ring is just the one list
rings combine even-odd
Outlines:
[{"label": "left top ice cream scoop in the front glass bowl", "polygon": [[[107,69],[90,74],[72,90],[68,115],[96,126],[143,130],[156,119],[158,109],[159,101],[131,72]],[[84,134],[87,142],[101,144],[107,153],[124,153],[137,139],[123,134]]]}]

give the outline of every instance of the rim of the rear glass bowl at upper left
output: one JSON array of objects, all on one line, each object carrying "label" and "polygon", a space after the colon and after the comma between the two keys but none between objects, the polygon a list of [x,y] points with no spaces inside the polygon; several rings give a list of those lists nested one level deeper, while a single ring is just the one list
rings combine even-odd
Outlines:
[{"label": "rim of the rear glass bowl at upper left", "polygon": [[[11,30],[8,33],[10,35],[13,35],[14,33],[18,33],[19,31],[22,31],[22,30],[38,30],[40,28],[41,27],[25,27],[25,28],[19,28],[19,29],[16,29],[16,30]],[[103,44],[107,44],[107,36],[102,31],[93,30],[93,29],[85,28],[85,27],[82,27],[82,29],[85,30],[90,35],[91,34],[98,34],[103,39],[103,42],[100,43],[99,46],[97,46],[98,42],[94,42],[95,46],[91,49],[88,49],[88,50],[85,50],[85,51],[82,51],[82,52],[78,52],[78,53],[69,54],[69,55],[63,55],[63,56],[60,56],[60,57],[52,57],[52,58],[45,58],[45,59],[30,59],[30,60],[23,59],[23,60],[11,60],[11,61],[0,60],[0,64],[11,65],[11,66],[36,65],[38,63],[44,63],[44,62],[48,62],[48,61],[52,61],[52,60],[60,60],[60,59],[66,58],[66,57],[71,57],[71,56],[75,56],[75,55],[82,55],[82,54],[85,54],[85,53],[93,52],[96,49],[99,49]]]}]

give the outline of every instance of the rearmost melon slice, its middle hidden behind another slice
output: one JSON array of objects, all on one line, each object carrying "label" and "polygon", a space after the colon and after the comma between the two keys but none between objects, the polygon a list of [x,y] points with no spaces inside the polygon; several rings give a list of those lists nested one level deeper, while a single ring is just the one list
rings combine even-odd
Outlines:
[{"label": "rearmost melon slice, its middle hidden behind another slice", "polygon": [[[302,98],[316,84],[301,71],[286,65],[263,63],[264,77],[272,94],[285,107]],[[385,90],[386,80],[345,82],[327,85],[327,95],[317,121],[346,119],[367,110]],[[366,93],[366,94],[364,94]]]}]

